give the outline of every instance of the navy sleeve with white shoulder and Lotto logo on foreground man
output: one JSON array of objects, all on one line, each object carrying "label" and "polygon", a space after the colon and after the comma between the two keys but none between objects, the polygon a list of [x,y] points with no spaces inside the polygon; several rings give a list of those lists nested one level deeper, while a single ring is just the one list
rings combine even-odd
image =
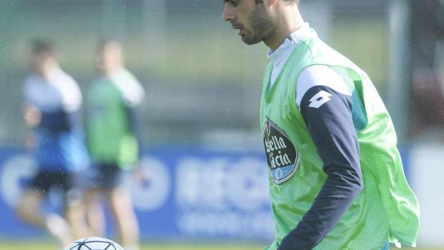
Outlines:
[{"label": "navy sleeve with white shoulder and Lotto logo on foreground man", "polygon": [[298,79],[296,102],[327,178],[312,207],[279,250],[312,249],[348,211],[362,190],[359,144],[344,80],[327,66],[312,66]]}]

